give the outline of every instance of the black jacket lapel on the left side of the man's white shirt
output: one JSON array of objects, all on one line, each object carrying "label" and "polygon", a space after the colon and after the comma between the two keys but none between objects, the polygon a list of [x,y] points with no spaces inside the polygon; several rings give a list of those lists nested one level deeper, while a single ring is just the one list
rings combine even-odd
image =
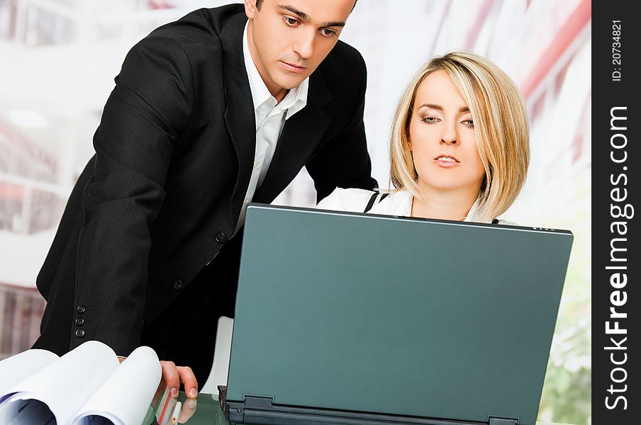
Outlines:
[{"label": "black jacket lapel on the left side of the man's white shirt", "polygon": [[247,17],[240,13],[220,33],[223,47],[225,125],[238,157],[238,178],[232,196],[233,217],[238,217],[247,193],[256,152],[256,121],[245,60],[243,31]]}]

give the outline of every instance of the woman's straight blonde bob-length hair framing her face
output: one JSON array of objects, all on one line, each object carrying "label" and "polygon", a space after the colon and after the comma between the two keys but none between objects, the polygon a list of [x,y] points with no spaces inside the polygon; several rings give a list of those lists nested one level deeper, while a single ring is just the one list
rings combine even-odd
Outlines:
[{"label": "woman's straight blonde bob-length hair framing her face", "polygon": [[476,145],[485,168],[475,220],[489,221],[505,212],[525,183],[530,164],[528,113],[523,95],[494,63],[467,52],[434,57],[401,96],[390,133],[391,183],[421,198],[410,149],[409,124],[416,90],[432,72],[444,70],[464,98],[474,120]]}]

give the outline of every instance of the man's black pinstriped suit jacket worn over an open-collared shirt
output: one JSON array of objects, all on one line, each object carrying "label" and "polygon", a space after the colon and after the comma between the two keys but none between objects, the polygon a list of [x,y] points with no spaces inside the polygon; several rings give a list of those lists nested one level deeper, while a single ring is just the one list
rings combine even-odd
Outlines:
[{"label": "man's black pinstriped suit jacket worn over an open-collared shirt", "polygon": [[[97,339],[127,355],[229,243],[255,154],[246,21],[242,5],[201,9],[128,53],[38,276],[47,307],[35,346],[62,354]],[[365,80],[362,57],[338,42],[286,121],[255,202],[274,200],[303,166],[319,199],[376,186]]]}]

